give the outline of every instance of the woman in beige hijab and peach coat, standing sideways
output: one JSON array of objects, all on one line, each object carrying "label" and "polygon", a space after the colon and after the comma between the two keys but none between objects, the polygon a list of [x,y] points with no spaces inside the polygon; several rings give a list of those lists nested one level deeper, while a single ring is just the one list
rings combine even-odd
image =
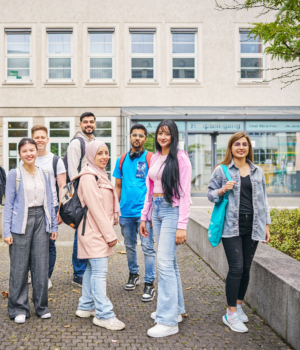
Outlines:
[{"label": "woman in beige hijab and peach coat, standing sideways", "polygon": [[125,324],[116,318],[106,296],[108,256],[117,243],[114,225],[120,215],[118,197],[105,171],[109,152],[104,142],[94,141],[86,147],[85,155],[87,165],[72,179],[80,177],[78,195],[82,206],[88,207],[84,235],[83,222],[78,227],[78,258],[87,259],[87,267],[76,315],[94,316],[95,325],[121,330]]}]

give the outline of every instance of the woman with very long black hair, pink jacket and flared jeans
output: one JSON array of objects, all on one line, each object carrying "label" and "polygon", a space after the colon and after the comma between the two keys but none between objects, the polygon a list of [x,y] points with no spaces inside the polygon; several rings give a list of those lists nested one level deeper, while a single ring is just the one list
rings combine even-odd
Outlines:
[{"label": "woman with very long black hair, pink jacket and flared jeans", "polygon": [[185,312],[176,250],[186,241],[192,166],[187,153],[178,149],[178,129],[172,120],[158,125],[155,146],[158,152],[151,158],[146,180],[140,232],[147,237],[146,221],[152,221],[159,282],[157,308],[151,314],[157,324],[147,334],[159,338],[178,333]]}]

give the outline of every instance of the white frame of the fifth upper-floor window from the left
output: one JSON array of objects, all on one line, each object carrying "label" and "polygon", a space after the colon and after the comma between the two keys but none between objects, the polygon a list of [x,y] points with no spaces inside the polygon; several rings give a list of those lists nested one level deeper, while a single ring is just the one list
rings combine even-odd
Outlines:
[{"label": "white frame of the fifth upper-floor window from the left", "polygon": [[[198,28],[195,28],[195,32],[192,33],[194,34],[194,44],[195,44],[195,53],[173,53],[173,33],[172,30],[176,29],[178,30],[178,33],[180,34],[189,34],[191,33],[191,29],[185,29],[185,28],[171,28],[171,81],[172,82],[197,82],[197,77],[198,77]],[[173,78],[173,58],[194,58],[195,59],[195,77],[194,78]]]}]

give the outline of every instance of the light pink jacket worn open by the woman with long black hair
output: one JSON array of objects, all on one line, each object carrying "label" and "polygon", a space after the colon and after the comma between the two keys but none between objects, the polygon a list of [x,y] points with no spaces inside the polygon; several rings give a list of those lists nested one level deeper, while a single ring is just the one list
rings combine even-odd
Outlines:
[{"label": "light pink jacket worn open by the woman with long black hair", "polygon": [[[159,158],[160,152],[155,153],[151,158],[150,168]],[[191,202],[191,180],[192,180],[192,165],[190,158],[185,151],[178,151],[177,153],[178,165],[179,165],[179,178],[180,185],[179,193],[180,199],[173,197],[173,206],[179,207],[179,219],[177,229],[186,230],[189,215],[190,215],[190,204]],[[149,221],[149,214],[152,212],[152,196],[154,182],[149,178],[146,179],[147,194],[145,198],[144,208],[142,210],[142,221]]]}]

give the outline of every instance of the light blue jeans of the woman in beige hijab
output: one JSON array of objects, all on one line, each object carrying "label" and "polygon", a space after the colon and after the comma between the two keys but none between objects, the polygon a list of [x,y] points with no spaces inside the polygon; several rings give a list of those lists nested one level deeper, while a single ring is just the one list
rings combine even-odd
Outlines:
[{"label": "light blue jeans of the woman in beige hijab", "polygon": [[96,310],[96,317],[108,320],[115,317],[113,305],[106,296],[106,276],[108,258],[87,259],[86,270],[82,281],[82,297],[78,309]]}]

